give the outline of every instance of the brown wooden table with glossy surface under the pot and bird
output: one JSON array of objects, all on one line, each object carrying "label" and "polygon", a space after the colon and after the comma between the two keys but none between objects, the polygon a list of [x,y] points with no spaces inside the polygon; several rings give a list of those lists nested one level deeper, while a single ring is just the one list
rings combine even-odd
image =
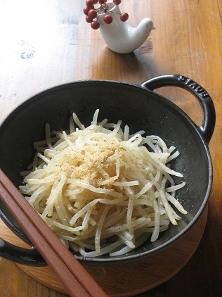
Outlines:
[{"label": "brown wooden table with glossy surface under the pot and bird", "polygon": [[[207,225],[183,269],[138,296],[222,296],[222,2],[123,0],[120,8],[129,13],[130,25],[150,17],[156,27],[143,46],[126,55],[107,49],[98,30],[91,30],[85,22],[84,6],[84,0],[0,1],[0,120],[33,94],[70,81],[139,84],[154,75],[178,73],[200,83],[216,108],[216,127],[209,144],[214,183]],[[158,92],[200,125],[202,110],[188,92],[174,87]],[[1,258],[0,296],[65,295]]]}]

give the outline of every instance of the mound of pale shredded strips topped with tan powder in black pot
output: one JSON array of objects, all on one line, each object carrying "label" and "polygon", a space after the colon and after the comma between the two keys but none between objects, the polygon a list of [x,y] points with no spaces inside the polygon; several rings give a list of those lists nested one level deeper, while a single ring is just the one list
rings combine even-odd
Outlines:
[{"label": "mound of pale shredded strips topped with tan powder in black pot", "polygon": [[[76,114],[69,132],[50,131],[37,150],[30,171],[22,172],[20,191],[72,250],[88,257],[117,256],[177,224],[187,212],[176,199],[171,177],[183,177],[166,165],[178,156],[157,136],[130,136],[122,122],[89,127]],[[77,127],[75,127],[77,125]]]}]

